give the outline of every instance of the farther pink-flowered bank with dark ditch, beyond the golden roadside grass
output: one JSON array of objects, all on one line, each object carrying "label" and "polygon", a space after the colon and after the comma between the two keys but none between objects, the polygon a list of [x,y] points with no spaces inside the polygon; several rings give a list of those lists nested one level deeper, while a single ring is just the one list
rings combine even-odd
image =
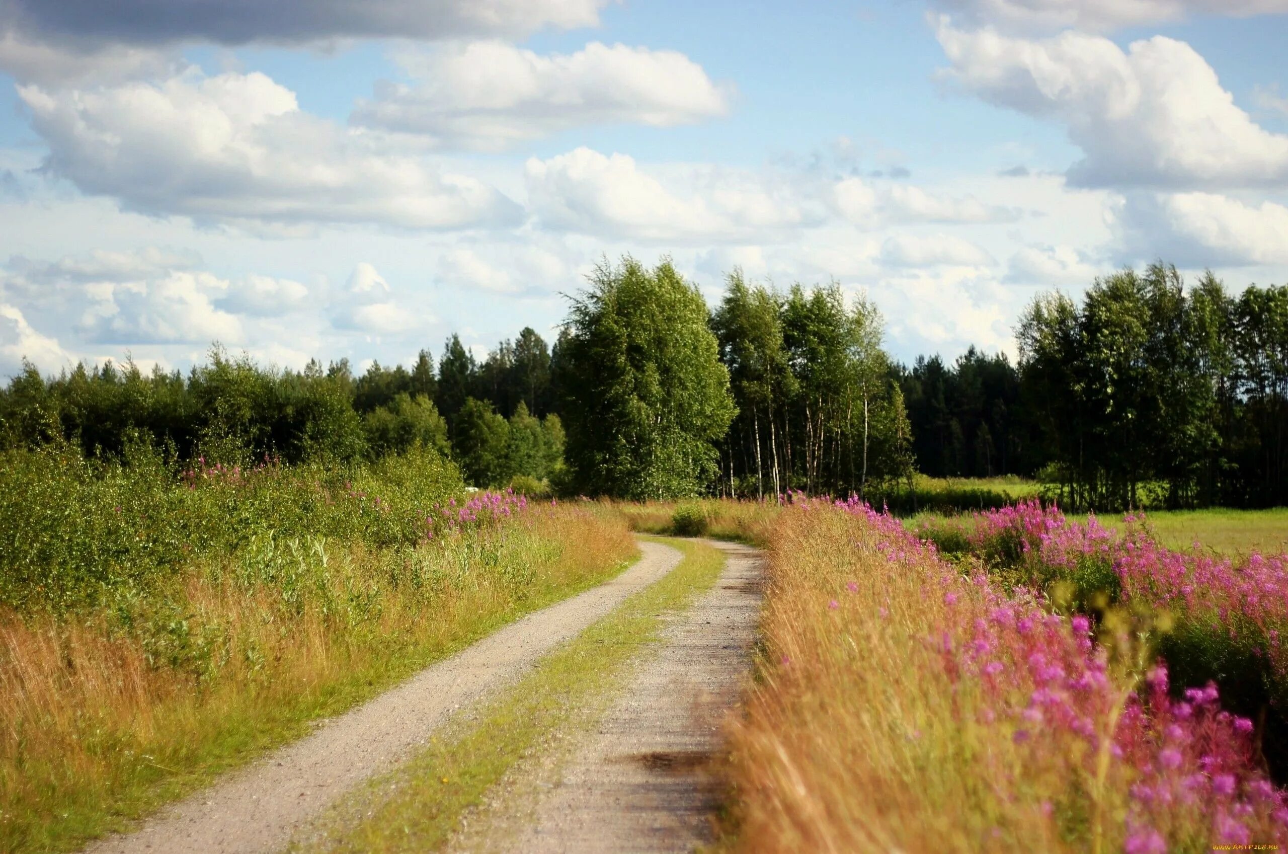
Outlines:
[{"label": "farther pink-flowered bank with dark ditch, beyond the golden roadside grass", "polygon": [[1202,542],[1167,549],[1153,518],[1127,515],[1109,528],[1025,502],[926,524],[918,535],[1059,612],[1148,629],[1173,694],[1215,684],[1226,711],[1256,721],[1270,773],[1288,781],[1288,649],[1280,641],[1288,555],[1239,549],[1226,556]]}]

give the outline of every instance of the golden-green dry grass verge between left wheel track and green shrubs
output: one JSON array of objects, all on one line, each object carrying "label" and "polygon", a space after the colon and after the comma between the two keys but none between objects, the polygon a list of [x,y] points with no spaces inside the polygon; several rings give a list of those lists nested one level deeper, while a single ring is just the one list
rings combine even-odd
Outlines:
[{"label": "golden-green dry grass verge between left wheel track and green shrubs", "polygon": [[291,553],[289,584],[207,565],[146,603],[3,617],[0,850],[120,827],[634,553],[613,514],[533,509],[416,550]]}]

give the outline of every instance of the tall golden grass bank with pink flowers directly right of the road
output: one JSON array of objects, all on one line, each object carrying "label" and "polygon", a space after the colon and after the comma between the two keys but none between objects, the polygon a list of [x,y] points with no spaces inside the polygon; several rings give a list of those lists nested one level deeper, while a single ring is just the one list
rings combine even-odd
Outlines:
[{"label": "tall golden grass bank with pink flowers directly right of the road", "polygon": [[1148,623],[1096,634],[859,505],[786,510],[769,571],[732,850],[1288,844],[1253,723],[1172,696]]}]

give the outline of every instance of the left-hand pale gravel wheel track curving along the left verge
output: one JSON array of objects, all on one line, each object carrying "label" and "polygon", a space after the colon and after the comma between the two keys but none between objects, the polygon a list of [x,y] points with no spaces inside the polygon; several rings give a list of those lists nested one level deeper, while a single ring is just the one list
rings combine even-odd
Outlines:
[{"label": "left-hand pale gravel wheel track curving along the left verge", "polygon": [[91,854],[211,851],[264,854],[357,783],[389,770],[452,711],[519,675],[555,645],[657,581],[680,562],[675,549],[640,544],[643,558],[592,590],[528,614],[370,703],[325,724],[148,821],[91,844]]}]

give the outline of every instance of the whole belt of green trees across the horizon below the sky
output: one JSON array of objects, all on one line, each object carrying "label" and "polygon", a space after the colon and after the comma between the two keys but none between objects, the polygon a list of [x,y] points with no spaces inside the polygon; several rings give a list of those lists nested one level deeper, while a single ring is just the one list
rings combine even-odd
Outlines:
[{"label": "whole belt of green trees across the horizon below the sky", "polygon": [[[301,371],[214,345],[187,375],[33,367],[0,390],[0,442],[128,460],[358,464],[433,447],[479,487],[663,498],[790,491],[869,500],[938,478],[1037,478],[1070,509],[1288,504],[1288,287],[1233,294],[1155,264],[1081,300],[1037,298],[1018,361],[911,366],[867,298],[726,277],[708,307],[663,260],[603,264],[553,344],[478,359]],[[519,480],[515,480],[515,479]]]}]

